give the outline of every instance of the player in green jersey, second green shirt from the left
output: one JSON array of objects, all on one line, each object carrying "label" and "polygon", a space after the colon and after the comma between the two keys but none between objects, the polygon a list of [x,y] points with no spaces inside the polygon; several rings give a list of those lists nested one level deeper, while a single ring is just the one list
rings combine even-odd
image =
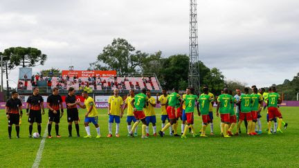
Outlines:
[{"label": "player in green jersey, second green shirt from the left", "polygon": [[[181,95],[179,95],[179,89],[178,88],[173,88],[172,93],[168,95],[167,97],[167,102],[166,102],[166,111],[168,118],[170,119],[170,122],[168,122],[165,127],[162,128],[161,131],[159,131],[159,135],[163,137],[163,132],[168,129],[170,126],[176,124],[176,104],[177,102],[181,102]],[[175,129],[175,128],[173,128]],[[174,132],[174,134],[177,134]]]}]

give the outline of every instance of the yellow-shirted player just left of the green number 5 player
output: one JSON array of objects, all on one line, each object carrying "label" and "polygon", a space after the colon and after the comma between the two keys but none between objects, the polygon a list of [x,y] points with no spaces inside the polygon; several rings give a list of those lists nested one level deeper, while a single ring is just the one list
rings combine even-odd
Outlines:
[{"label": "yellow-shirted player just left of the green number 5 player", "polygon": [[[126,100],[125,100],[125,106],[123,106],[123,111],[125,111],[125,109],[127,108],[127,129],[128,129],[128,136],[130,136],[130,131],[132,129],[132,121],[135,123],[137,120],[134,116],[134,108],[131,104],[132,100],[134,100],[134,89],[131,89],[129,91],[129,95],[127,96]],[[135,133],[134,136],[137,136],[137,127],[135,129]]]}]

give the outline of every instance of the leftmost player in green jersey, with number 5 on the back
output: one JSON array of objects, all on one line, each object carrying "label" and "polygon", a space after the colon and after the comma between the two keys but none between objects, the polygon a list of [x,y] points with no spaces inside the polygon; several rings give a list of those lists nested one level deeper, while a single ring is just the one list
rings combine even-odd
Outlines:
[{"label": "leftmost player in green jersey, with number 5 on the back", "polygon": [[134,100],[132,100],[131,105],[134,109],[134,116],[136,118],[136,122],[134,123],[132,130],[130,131],[129,135],[131,137],[133,136],[133,133],[135,131],[135,128],[138,126],[139,122],[143,122],[142,125],[142,136],[141,138],[147,138],[146,136],[146,121],[145,121],[145,113],[143,112],[143,108],[148,106],[148,98],[146,94],[146,88],[143,88],[141,90],[141,93],[138,93],[134,96]]}]

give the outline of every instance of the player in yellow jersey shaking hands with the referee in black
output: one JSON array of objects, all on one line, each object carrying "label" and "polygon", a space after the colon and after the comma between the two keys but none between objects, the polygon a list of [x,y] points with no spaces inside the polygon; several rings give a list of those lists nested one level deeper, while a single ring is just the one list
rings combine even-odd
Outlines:
[{"label": "player in yellow jersey shaking hands with the referee in black", "polygon": [[84,91],[82,93],[82,97],[84,97],[84,104],[80,104],[80,101],[76,102],[78,106],[80,106],[82,109],[86,109],[87,113],[85,114],[85,120],[84,120],[84,126],[85,130],[87,131],[87,136],[84,136],[84,138],[91,138],[90,133],[90,127],[89,123],[92,122],[95,127],[96,131],[98,133],[98,136],[96,138],[100,138],[100,126],[98,125],[98,111],[96,109],[96,104],[92,97],[89,97],[87,91]]}]

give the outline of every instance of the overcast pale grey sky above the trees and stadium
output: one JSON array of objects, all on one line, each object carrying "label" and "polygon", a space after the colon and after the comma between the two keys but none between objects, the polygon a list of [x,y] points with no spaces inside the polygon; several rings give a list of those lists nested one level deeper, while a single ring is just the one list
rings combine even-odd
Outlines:
[{"label": "overcast pale grey sky above the trees and stadium", "polygon": [[[189,4],[183,0],[1,0],[0,50],[39,48],[48,55],[33,68],[86,70],[112,39],[163,57],[188,54]],[[299,73],[298,0],[198,0],[199,59],[258,87]],[[17,82],[19,70],[10,73]],[[15,84],[10,82],[12,86]]]}]

